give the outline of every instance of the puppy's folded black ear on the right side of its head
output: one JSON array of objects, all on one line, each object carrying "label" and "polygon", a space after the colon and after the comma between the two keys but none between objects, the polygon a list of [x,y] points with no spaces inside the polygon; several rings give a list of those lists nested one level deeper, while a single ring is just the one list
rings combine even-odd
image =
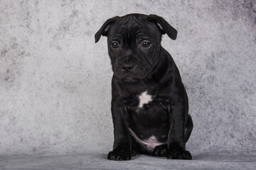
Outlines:
[{"label": "puppy's folded black ear on the right side of its head", "polygon": [[165,21],[164,18],[161,18],[161,16],[149,15],[148,19],[149,21],[154,21],[154,23],[156,23],[162,34],[166,33],[169,38],[176,40],[177,30],[174,29],[167,21]]}]

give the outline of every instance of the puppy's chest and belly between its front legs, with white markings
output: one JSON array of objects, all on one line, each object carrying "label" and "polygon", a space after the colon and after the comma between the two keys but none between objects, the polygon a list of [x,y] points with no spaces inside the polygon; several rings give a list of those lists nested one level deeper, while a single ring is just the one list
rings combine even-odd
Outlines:
[{"label": "puppy's chest and belly between its front legs, with white markings", "polygon": [[164,145],[167,140],[169,125],[167,113],[159,101],[157,93],[144,90],[137,94],[136,103],[132,104],[129,119],[129,133],[147,152]]}]

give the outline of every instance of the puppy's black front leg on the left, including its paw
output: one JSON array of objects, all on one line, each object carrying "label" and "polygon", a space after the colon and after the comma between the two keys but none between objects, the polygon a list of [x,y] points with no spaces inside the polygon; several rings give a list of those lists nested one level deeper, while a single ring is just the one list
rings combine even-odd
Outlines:
[{"label": "puppy's black front leg on the left, including its paw", "polygon": [[116,161],[130,160],[132,157],[131,141],[127,128],[128,117],[124,103],[120,100],[112,101],[111,111],[114,123],[114,147],[107,155],[107,159]]}]

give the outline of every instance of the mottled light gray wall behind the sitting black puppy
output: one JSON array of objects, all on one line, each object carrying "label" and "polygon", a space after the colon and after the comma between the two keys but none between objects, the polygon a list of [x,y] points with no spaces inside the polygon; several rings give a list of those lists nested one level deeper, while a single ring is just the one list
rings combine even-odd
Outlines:
[{"label": "mottled light gray wall behind the sitting black puppy", "polygon": [[255,151],[256,2],[0,1],[0,154],[107,153],[112,70],[107,18],[155,13],[178,30],[191,152]]}]

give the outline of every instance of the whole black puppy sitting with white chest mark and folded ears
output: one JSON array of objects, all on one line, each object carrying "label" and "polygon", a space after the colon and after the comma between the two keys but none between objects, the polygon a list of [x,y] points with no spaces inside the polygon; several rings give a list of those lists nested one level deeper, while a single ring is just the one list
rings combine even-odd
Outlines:
[{"label": "whole black puppy sitting with white chest mark and folded ears", "polygon": [[137,153],[192,159],[186,142],[193,129],[188,96],[161,35],[176,39],[164,18],[138,13],[108,19],[95,34],[107,36],[112,77],[114,147],[111,160]]}]

